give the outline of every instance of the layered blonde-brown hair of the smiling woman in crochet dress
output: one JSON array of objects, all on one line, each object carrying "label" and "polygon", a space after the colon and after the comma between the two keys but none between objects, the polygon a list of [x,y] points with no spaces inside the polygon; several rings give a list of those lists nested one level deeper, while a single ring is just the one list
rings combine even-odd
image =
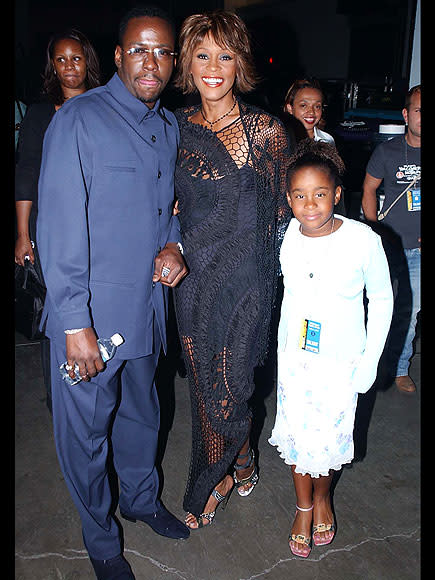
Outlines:
[{"label": "layered blonde-brown hair of the smiling woman in crochet dress", "polygon": [[190,74],[190,67],[195,48],[207,35],[210,35],[216,44],[236,55],[234,92],[251,91],[257,84],[258,78],[251,52],[249,32],[237,14],[224,10],[193,14],[184,20],[179,38],[180,50],[175,86],[184,94],[194,93],[197,90]]}]

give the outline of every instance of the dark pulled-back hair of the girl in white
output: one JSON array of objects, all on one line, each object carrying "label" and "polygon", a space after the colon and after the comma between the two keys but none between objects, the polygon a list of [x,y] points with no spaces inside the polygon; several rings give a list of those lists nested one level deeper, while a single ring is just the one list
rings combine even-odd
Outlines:
[{"label": "dark pulled-back hair of the girl in white", "polygon": [[332,177],[335,187],[343,185],[341,176],[345,165],[334,145],[313,139],[303,139],[289,159],[287,185],[294,173],[301,167],[318,167],[326,170]]}]

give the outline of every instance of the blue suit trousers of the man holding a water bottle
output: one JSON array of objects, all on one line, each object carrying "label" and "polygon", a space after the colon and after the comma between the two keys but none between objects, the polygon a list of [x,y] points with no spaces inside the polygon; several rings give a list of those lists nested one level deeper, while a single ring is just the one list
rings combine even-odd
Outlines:
[{"label": "blue suit trousers of the man holding a water bottle", "polygon": [[[159,478],[155,467],[160,409],[154,375],[160,337],[153,354],[123,360],[122,346],[90,382],[69,386],[59,366],[65,345],[51,342],[53,426],[56,451],[69,492],[79,511],[83,539],[92,558],[121,552],[118,526],[110,513],[109,446],[119,478],[119,507],[129,514],[153,513]],[[118,406],[119,405],[119,406]]]}]

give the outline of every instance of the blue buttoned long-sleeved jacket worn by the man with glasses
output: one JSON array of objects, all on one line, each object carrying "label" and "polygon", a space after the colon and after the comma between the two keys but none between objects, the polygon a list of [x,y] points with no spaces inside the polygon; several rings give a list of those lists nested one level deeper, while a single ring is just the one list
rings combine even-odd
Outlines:
[{"label": "blue buttoned long-sleeved jacket worn by the man with glasses", "polygon": [[37,223],[50,338],[88,326],[102,337],[120,332],[120,356],[136,358],[152,352],[157,323],[165,348],[167,288],[152,274],[160,249],[181,239],[172,215],[178,142],[174,115],[159,102],[148,109],[117,74],[54,115]]}]

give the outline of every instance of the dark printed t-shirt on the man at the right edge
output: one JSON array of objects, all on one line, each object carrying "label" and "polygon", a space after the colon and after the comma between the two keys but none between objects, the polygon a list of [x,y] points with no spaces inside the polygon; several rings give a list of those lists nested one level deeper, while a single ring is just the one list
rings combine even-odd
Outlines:
[{"label": "dark printed t-shirt on the man at the right edge", "polygon": [[[420,147],[410,147],[403,135],[376,147],[367,165],[367,173],[384,180],[385,211],[396,197],[421,175]],[[420,179],[392,207],[382,223],[389,225],[402,239],[404,248],[418,248],[421,221]]]}]

